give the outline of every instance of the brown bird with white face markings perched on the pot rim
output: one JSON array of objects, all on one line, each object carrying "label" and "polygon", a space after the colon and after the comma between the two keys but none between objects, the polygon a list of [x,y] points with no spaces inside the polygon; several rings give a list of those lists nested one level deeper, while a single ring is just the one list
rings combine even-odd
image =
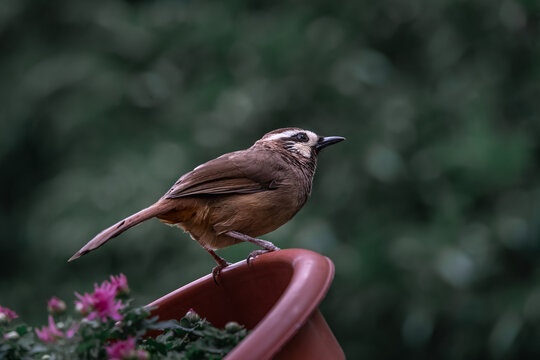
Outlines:
[{"label": "brown bird with white face markings perched on the pot rim", "polygon": [[69,261],[97,249],[145,220],[157,217],[189,232],[216,260],[214,279],[229,265],[214,250],[242,241],[264,250],[251,258],[279,250],[256,237],[276,230],[306,203],[319,151],[345,140],[322,137],[299,128],[264,135],[246,150],[210,160],[182,176],[155,204],[103,230]]}]

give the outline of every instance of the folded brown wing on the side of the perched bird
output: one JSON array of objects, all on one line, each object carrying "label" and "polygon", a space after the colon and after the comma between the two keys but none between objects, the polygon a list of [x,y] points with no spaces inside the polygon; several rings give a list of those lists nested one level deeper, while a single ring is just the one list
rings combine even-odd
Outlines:
[{"label": "folded brown wing on the side of the perched bird", "polygon": [[210,160],[182,176],[165,194],[174,199],[191,195],[250,194],[278,186],[268,167],[272,154],[242,150]]}]

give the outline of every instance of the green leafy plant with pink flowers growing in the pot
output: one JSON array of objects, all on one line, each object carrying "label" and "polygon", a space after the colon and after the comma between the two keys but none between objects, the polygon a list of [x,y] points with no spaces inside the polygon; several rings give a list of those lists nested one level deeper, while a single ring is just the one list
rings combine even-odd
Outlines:
[{"label": "green leafy plant with pink flowers growing in the pot", "polygon": [[[127,294],[127,282],[124,284],[124,291],[114,287],[115,292],[111,293],[121,304],[118,314],[93,317],[91,314],[101,306],[94,303],[89,308],[77,304],[77,315],[73,316],[66,313],[65,304],[51,307],[51,303],[63,303],[52,298],[48,306],[49,324],[41,329],[13,324],[13,319],[4,317],[0,321],[0,359],[218,360],[247,335],[246,329],[235,322],[217,329],[193,310],[179,321],[158,321],[151,316],[152,309],[131,305],[133,299]],[[108,281],[100,287],[96,284],[90,296],[110,285]],[[0,307],[0,314],[4,314],[1,310]],[[156,330],[161,332],[156,338],[146,336],[148,331]]]}]

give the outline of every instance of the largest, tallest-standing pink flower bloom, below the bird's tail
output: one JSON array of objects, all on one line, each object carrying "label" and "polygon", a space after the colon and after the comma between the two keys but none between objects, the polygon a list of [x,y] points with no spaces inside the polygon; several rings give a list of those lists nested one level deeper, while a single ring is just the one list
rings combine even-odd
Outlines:
[{"label": "largest, tallest-standing pink flower bloom, below the bird's tail", "polygon": [[116,300],[116,291],[117,287],[108,281],[104,281],[100,286],[94,284],[92,294],[75,293],[75,296],[79,298],[79,301],[75,301],[75,307],[82,315],[88,314],[87,320],[96,318],[103,322],[109,318],[116,321],[122,320],[123,316],[119,311],[124,305],[120,300]]}]

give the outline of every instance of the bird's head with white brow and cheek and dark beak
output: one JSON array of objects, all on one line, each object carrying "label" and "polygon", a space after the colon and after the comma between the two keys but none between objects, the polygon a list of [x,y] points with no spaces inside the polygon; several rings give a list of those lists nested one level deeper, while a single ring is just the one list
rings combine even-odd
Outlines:
[{"label": "bird's head with white brow and cheek and dark beak", "polygon": [[341,136],[319,136],[313,131],[300,128],[283,128],[264,135],[257,143],[284,149],[294,156],[315,159],[325,147],[345,140]]}]

